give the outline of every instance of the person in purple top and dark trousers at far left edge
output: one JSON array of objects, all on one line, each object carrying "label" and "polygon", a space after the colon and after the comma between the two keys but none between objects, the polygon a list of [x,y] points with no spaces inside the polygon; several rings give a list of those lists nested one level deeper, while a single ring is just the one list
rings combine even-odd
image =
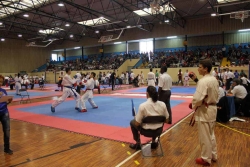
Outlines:
[{"label": "person in purple top and dark trousers at far left edge", "polygon": [[[4,83],[4,77],[0,75],[0,99],[3,96],[7,96],[6,90],[1,88]],[[2,123],[3,138],[4,138],[4,152],[12,155],[13,151],[10,149],[10,116],[7,105],[10,104],[12,99],[8,99],[6,102],[0,102],[0,121]]]}]

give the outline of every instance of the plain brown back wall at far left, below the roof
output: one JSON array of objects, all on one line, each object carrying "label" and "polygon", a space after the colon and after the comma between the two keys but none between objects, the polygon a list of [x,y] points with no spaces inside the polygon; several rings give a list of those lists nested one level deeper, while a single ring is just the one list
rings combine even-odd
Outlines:
[{"label": "plain brown back wall at far left, below the roof", "polygon": [[6,39],[0,42],[0,72],[31,72],[51,57],[51,47],[26,47],[22,40]]}]

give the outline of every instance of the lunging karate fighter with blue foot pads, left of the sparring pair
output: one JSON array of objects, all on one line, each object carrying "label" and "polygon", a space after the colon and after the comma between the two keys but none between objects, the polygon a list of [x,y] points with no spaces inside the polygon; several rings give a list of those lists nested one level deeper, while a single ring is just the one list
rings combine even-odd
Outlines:
[{"label": "lunging karate fighter with blue foot pads, left of the sparring pair", "polygon": [[74,89],[74,84],[77,82],[77,80],[75,78],[77,78],[77,76],[74,76],[74,79],[72,79],[70,77],[71,74],[71,69],[70,68],[66,68],[66,75],[63,77],[63,81],[62,81],[62,85],[63,85],[63,94],[62,96],[55,100],[52,103],[51,106],[51,112],[55,112],[55,107],[58,106],[59,104],[61,104],[62,102],[65,101],[65,99],[68,96],[72,96],[74,97],[74,99],[76,100],[76,107],[75,109],[80,111],[79,107],[80,107],[80,102],[81,102],[81,97],[80,95],[76,92],[76,90]]}]

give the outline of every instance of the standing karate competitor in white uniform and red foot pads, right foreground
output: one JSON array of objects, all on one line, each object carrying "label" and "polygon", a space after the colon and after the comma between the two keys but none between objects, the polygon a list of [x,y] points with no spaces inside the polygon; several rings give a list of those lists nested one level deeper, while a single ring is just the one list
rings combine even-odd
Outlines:
[{"label": "standing karate competitor in white uniform and red foot pads, right foreground", "polygon": [[192,109],[195,111],[195,120],[198,122],[198,135],[201,147],[201,158],[196,163],[209,166],[211,161],[217,161],[217,146],[214,127],[217,115],[217,100],[219,84],[210,74],[212,63],[209,59],[200,61],[199,74],[203,75],[196,87],[192,100]]}]

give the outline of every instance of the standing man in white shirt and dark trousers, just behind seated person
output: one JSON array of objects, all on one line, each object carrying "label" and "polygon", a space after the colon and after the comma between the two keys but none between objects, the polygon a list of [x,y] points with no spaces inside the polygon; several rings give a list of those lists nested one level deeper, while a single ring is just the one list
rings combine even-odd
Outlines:
[{"label": "standing man in white shirt and dark trousers, just behind seated person", "polygon": [[168,124],[172,124],[172,111],[170,106],[170,96],[171,96],[171,87],[172,87],[172,78],[167,74],[167,66],[161,67],[161,74],[159,77],[158,84],[158,96],[159,101],[165,103],[168,113],[169,113],[169,121]]}]

